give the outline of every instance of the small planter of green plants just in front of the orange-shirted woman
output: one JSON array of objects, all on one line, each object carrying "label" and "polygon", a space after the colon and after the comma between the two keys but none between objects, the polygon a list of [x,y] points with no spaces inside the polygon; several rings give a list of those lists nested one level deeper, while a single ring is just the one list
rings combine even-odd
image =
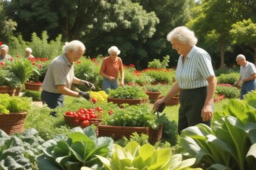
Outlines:
[{"label": "small planter of green plants just in front of the orange-shirted woman", "polygon": [[107,102],[115,104],[127,103],[129,105],[145,103],[148,96],[140,86],[123,86],[117,89],[110,89]]}]

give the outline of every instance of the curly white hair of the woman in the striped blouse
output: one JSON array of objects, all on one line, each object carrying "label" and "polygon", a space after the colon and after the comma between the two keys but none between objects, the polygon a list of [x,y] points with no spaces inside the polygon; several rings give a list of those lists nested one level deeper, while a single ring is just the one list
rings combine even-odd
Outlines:
[{"label": "curly white hair of the woman in the striped blouse", "polygon": [[197,38],[194,35],[194,32],[185,26],[176,27],[171,30],[167,35],[167,40],[171,42],[172,39],[177,39],[182,44],[188,44],[190,46],[194,46],[197,43]]}]

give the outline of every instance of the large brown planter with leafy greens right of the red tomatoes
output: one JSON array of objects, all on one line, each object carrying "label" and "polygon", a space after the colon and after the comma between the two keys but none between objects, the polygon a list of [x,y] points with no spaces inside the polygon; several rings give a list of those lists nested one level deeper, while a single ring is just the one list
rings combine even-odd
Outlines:
[{"label": "large brown planter with leafy greens right of the red tomatoes", "polygon": [[149,142],[155,143],[162,138],[162,116],[165,115],[158,117],[152,114],[146,104],[127,106],[102,118],[102,124],[98,126],[99,136],[111,136],[118,140],[124,136],[129,138],[133,132],[137,132],[149,135]]}]

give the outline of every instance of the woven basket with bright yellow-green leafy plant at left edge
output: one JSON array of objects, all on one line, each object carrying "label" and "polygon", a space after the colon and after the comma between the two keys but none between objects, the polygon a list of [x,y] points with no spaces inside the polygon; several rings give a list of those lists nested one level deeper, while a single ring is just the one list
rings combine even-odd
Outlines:
[{"label": "woven basket with bright yellow-green leafy plant at left edge", "polygon": [[9,135],[22,132],[30,104],[30,98],[0,94],[0,129]]}]

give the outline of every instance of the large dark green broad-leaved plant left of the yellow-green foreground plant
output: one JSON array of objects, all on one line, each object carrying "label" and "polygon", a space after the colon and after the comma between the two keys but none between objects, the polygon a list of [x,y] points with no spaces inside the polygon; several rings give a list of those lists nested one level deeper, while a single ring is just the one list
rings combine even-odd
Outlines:
[{"label": "large dark green broad-leaved plant left of the yellow-green foreground plant", "polygon": [[97,138],[94,130],[74,127],[67,135],[56,135],[46,141],[38,160],[39,169],[80,169],[82,166],[99,169],[102,166],[96,155],[107,157],[112,151],[110,137]]}]

